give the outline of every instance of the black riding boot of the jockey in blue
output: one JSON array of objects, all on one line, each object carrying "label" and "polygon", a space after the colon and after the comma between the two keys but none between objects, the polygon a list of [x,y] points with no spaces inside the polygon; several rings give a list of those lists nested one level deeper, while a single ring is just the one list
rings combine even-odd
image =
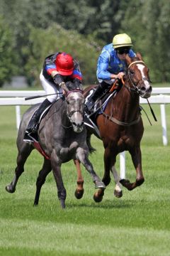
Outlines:
[{"label": "black riding boot of the jockey in blue", "polygon": [[86,102],[86,108],[89,112],[93,112],[94,109],[94,103],[96,100],[101,97],[103,92],[108,89],[108,87],[111,87],[111,85],[107,84],[106,82],[101,82],[94,93],[89,97],[89,100]]}]

